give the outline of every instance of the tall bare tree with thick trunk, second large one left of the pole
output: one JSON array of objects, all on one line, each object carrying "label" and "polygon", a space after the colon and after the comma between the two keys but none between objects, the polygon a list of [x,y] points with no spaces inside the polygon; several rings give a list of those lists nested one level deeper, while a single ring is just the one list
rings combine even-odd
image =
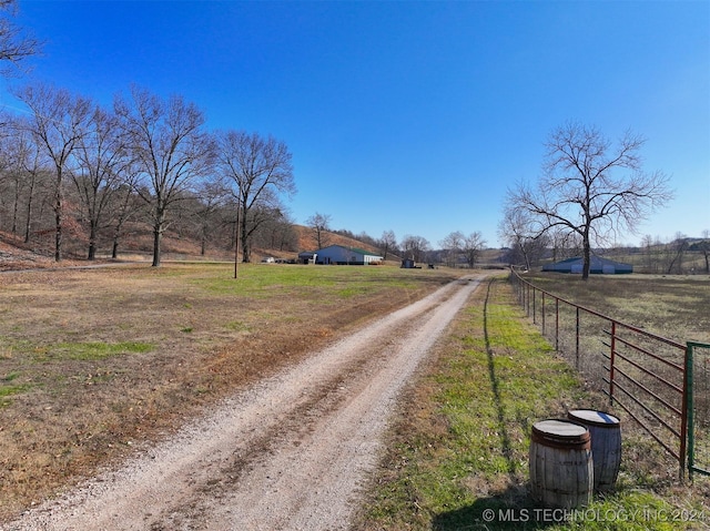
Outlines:
[{"label": "tall bare tree with thick trunk, second large one left of the pole", "polygon": [[114,111],[123,140],[148,184],[136,191],[151,205],[152,265],[158,267],[170,208],[185,197],[197,178],[209,175],[213,141],[203,129],[202,111],[180,95],[162,100],[133,86],[130,100],[116,96]]}]

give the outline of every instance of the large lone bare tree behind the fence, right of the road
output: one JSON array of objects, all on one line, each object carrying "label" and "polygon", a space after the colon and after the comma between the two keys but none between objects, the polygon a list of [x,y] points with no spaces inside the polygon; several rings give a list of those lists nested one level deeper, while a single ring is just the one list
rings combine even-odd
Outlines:
[{"label": "large lone bare tree behind the fence, right of the road", "polygon": [[596,127],[567,123],[547,141],[544,175],[531,187],[509,190],[507,208],[529,214],[528,233],[554,227],[577,233],[582,242],[582,278],[589,277],[591,244],[601,244],[625,231],[633,233],[672,193],[661,172],[641,170],[645,140],[627,132],[612,145]]}]

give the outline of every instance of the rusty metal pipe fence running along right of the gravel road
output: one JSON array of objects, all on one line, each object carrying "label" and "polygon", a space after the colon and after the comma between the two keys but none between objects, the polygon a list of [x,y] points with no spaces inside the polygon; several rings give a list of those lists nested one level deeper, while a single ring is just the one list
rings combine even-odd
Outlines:
[{"label": "rusty metal pipe fence running along right of the gravel road", "polygon": [[[706,349],[703,369],[710,375],[710,345],[651,334],[540,289],[514,269],[510,279],[542,335],[609,397],[610,406],[623,409],[678,461],[681,479],[686,466],[691,476],[710,474],[710,418],[703,418],[702,429],[694,421],[710,404],[693,402],[692,380],[693,349]],[[699,455],[708,456],[706,468],[696,463]]]}]

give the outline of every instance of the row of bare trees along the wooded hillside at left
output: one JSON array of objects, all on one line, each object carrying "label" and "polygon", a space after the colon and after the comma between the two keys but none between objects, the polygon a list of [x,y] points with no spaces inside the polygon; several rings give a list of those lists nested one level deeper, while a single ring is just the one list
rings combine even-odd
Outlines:
[{"label": "row of bare trees along the wooded hillside at left", "polygon": [[49,84],[14,95],[27,114],[0,118],[0,229],[26,243],[53,239],[100,247],[116,257],[122,241],[150,227],[153,265],[163,235],[234,248],[295,251],[283,198],[295,192],[292,155],[272,137],[210,131],[203,112],[180,95],[132,86],[104,108]]}]

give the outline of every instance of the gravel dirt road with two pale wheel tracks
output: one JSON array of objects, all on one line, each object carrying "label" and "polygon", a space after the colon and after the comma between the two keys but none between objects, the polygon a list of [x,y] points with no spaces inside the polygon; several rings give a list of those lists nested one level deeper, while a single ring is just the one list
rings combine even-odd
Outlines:
[{"label": "gravel dirt road with two pale wheel tracks", "polygon": [[397,395],[480,278],[314,353],[1,529],[347,529]]}]

